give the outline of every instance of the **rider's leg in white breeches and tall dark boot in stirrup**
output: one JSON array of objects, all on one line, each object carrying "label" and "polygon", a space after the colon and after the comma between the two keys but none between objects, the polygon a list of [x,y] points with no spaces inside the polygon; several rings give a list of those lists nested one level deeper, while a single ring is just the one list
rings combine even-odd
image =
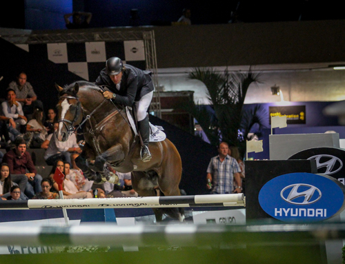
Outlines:
[{"label": "rider's leg in white breeches and tall dark boot in stirrup", "polygon": [[150,161],[151,154],[150,150],[148,150],[148,143],[150,141],[150,125],[148,123],[148,107],[150,106],[151,100],[153,96],[153,91],[145,94],[144,97],[137,102],[135,105],[137,107],[137,120],[138,120],[138,128],[141,134],[141,138],[143,139],[143,146],[141,146],[141,160],[146,162]]}]

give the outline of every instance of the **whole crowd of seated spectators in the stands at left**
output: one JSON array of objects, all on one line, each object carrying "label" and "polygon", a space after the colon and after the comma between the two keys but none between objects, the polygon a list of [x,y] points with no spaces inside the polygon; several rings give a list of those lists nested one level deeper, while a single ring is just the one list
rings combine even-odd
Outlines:
[{"label": "whole crowd of seated spectators in the stands at left", "polygon": [[[87,199],[137,196],[132,190],[130,173],[121,174],[119,183],[94,184],[83,176],[75,159],[81,153],[83,141],[75,134],[68,141],[55,139],[57,112],[44,109],[25,72],[12,81],[0,108],[0,197],[2,200],[60,199],[54,181],[57,168],[63,173],[63,198]],[[28,149],[44,152],[50,173],[38,174]]]}]

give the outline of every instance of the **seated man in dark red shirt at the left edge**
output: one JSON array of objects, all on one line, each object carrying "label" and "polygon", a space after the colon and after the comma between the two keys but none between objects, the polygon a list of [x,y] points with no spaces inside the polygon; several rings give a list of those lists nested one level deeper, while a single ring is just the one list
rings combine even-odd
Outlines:
[{"label": "seated man in dark red shirt at the left edge", "polygon": [[[24,194],[32,199],[35,193],[41,192],[42,176],[37,174],[30,153],[26,151],[26,141],[17,138],[14,141],[15,148],[6,152],[3,161],[8,163],[12,181],[19,181],[18,185]],[[28,173],[26,172],[28,170]],[[26,176],[26,185],[23,185],[23,176]]]}]

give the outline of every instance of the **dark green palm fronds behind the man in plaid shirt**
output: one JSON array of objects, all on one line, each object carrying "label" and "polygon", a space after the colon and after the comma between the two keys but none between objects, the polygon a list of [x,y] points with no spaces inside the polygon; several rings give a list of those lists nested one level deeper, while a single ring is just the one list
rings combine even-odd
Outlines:
[{"label": "dark green palm fronds behind the man in plaid shirt", "polygon": [[[246,139],[253,122],[259,121],[250,113],[246,114],[246,122],[242,121],[244,99],[251,83],[259,82],[259,73],[253,72],[217,72],[213,68],[195,68],[188,75],[206,85],[207,97],[215,110],[215,118],[201,105],[190,103],[184,109],[190,112],[204,130],[212,145],[226,141],[231,145],[241,147],[239,131]],[[251,112],[255,115],[255,111]]]}]

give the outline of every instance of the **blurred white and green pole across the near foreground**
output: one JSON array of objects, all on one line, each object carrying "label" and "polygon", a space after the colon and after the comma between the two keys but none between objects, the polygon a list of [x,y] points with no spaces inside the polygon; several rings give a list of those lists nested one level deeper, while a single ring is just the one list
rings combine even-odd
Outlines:
[{"label": "blurred white and green pole across the near foreground", "polygon": [[0,245],[205,246],[314,243],[345,238],[342,223],[310,225],[72,225],[6,226]]}]

